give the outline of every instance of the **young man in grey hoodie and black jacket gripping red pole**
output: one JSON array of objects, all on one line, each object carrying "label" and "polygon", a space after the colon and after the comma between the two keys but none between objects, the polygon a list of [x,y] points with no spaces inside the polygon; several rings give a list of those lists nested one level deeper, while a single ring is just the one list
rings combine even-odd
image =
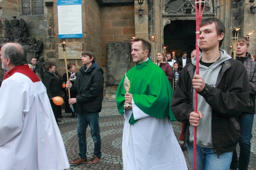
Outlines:
[{"label": "young man in grey hoodie and black jacket gripping red pole", "polygon": [[[232,151],[240,137],[237,117],[250,94],[243,64],[219,49],[224,33],[220,20],[202,20],[199,75],[195,75],[194,57],[182,69],[172,99],[171,108],[177,121],[184,122],[184,142],[192,167],[194,126],[197,127],[197,170],[229,170]],[[194,112],[195,90],[198,91],[198,113]]]}]

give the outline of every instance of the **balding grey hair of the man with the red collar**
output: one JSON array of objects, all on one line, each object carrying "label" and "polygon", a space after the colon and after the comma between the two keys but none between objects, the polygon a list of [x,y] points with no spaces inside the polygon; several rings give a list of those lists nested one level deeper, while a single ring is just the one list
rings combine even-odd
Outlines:
[{"label": "balding grey hair of the man with the red collar", "polygon": [[10,58],[10,64],[16,67],[28,63],[26,49],[19,43],[6,43],[3,46],[4,51],[2,57]]}]

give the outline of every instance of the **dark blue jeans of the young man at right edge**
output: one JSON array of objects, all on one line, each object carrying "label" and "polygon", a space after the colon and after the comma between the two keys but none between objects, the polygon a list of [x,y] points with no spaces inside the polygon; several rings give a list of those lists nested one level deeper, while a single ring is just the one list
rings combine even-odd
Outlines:
[{"label": "dark blue jeans of the young man at right edge", "polygon": [[238,168],[239,170],[248,170],[250,161],[250,139],[252,138],[253,118],[254,114],[245,112],[243,112],[239,117],[241,134],[241,138],[239,140],[240,155],[238,161],[236,150],[234,150],[232,162],[230,165],[231,169],[236,170]]}]

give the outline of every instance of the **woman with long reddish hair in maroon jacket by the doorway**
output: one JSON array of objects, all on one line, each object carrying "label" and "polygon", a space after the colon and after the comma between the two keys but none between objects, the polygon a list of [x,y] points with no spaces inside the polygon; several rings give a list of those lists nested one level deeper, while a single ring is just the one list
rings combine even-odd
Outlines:
[{"label": "woman with long reddish hair in maroon jacket by the doorway", "polygon": [[163,69],[163,72],[165,72],[167,79],[169,80],[170,84],[172,84],[172,81],[173,81],[172,67],[166,61],[163,51],[158,51],[156,53],[156,59],[158,60],[158,62],[156,62],[156,65],[158,65],[161,69]]}]

